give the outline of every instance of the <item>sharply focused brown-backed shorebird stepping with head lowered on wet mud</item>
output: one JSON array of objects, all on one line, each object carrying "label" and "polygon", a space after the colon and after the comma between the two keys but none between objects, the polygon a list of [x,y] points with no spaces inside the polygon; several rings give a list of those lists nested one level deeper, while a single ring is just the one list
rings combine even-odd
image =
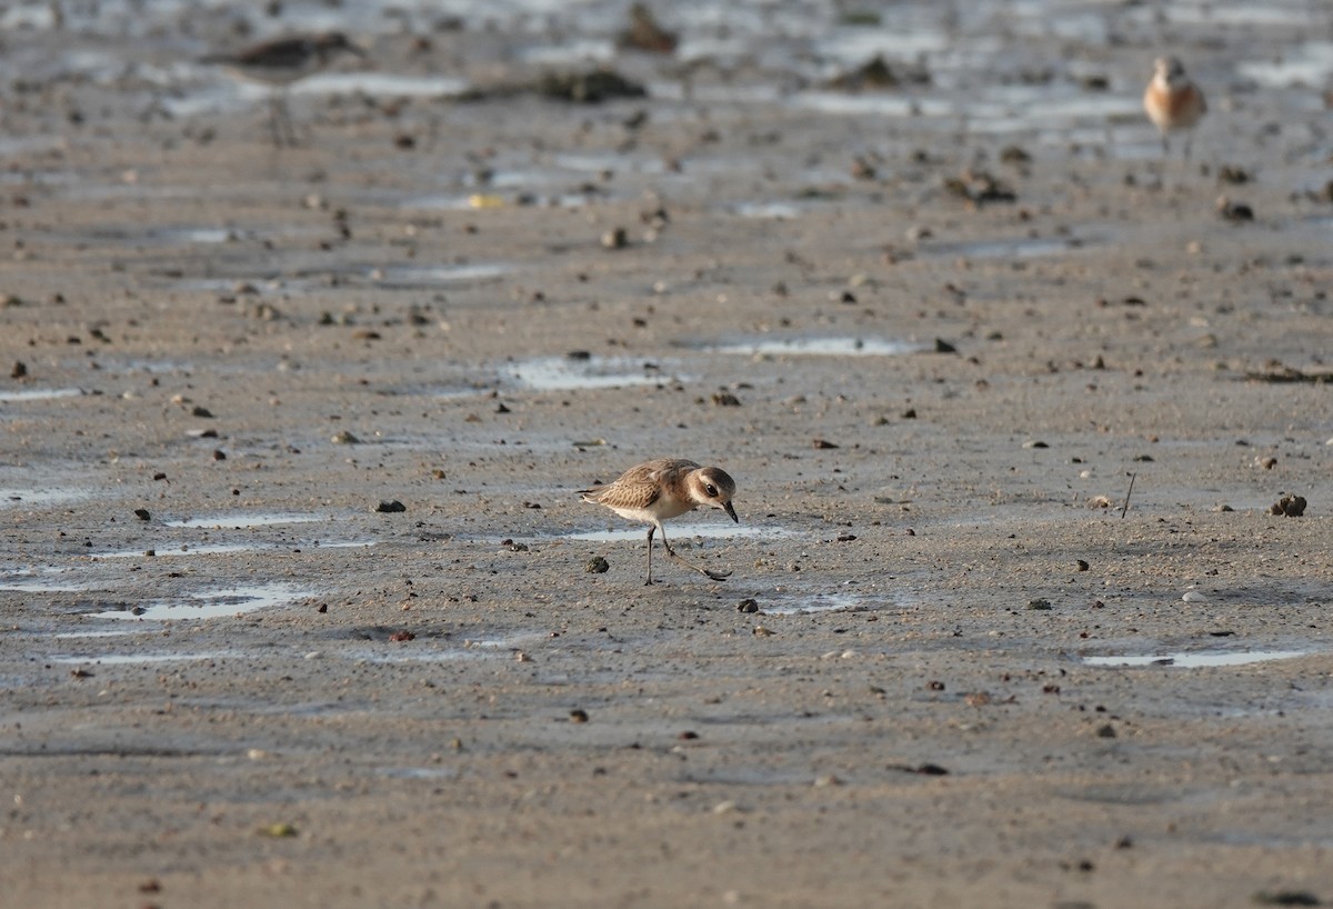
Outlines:
[{"label": "sharply focused brown-backed shorebird stepping with head lowered on wet mud", "polygon": [[663,521],[680,517],[700,505],[721,508],[730,514],[733,521],[740,524],[736,509],[732,508],[736,481],[721,468],[700,466],[693,461],[660,457],[629,468],[615,482],[583,489],[579,494],[585,502],[605,505],[621,517],[631,521],[647,521],[651,525],[648,528],[648,580],[644,581],[645,585],[653,582],[655,530],[661,530],[663,548],[672,561],[714,581],[730,576],[730,572],[709,570],[677,556],[676,550],[666,542],[666,528],[663,526]]}]

